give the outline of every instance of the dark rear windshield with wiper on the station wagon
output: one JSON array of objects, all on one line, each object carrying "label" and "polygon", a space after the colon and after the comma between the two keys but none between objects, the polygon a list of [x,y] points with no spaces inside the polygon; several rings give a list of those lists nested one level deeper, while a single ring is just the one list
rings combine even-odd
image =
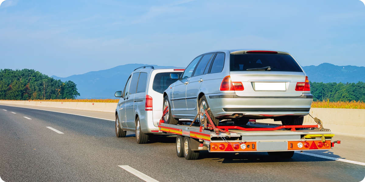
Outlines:
[{"label": "dark rear windshield with wiper on the station wagon", "polygon": [[303,72],[288,54],[231,54],[230,71]]}]

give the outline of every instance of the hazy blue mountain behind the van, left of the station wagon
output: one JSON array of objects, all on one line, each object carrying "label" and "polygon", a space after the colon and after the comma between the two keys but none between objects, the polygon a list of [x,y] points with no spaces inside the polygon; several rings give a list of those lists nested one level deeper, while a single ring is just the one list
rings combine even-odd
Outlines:
[{"label": "hazy blue mountain behind the van, left of the station wagon", "polygon": [[[78,98],[86,99],[105,99],[115,98],[114,92],[122,90],[127,82],[130,73],[138,67],[147,64],[125,64],[114,68],[100,71],[91,71],[81,75],[72,75],[66,78],[51,76],[60,79],[62,82],[72,80],[77,85],[80,93]],[[172,66],[157,66],[155,68],[172,68]]]}]

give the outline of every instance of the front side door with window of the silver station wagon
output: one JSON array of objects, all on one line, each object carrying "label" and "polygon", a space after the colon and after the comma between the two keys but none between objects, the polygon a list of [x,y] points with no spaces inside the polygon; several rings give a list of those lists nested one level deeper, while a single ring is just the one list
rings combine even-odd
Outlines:
[{"label": "front side door with window of the silver station wagon", "polygon": [[195,58],[189,66],[185,69],[181,78],[176,82],[173,92],[172,92],[172,100],[173,109],[172,111],[186,111],[186,87],[189,84],[189,79],[195,69],[196,64],[199,62],[201,56]]}]

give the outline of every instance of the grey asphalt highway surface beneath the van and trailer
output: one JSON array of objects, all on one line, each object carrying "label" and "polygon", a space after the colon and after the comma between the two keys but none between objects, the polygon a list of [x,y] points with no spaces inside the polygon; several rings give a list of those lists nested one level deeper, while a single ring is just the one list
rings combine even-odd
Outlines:
[{"label": "grey asphalt highway surface beneath the van and trailer", "polygon": [[[347,140],[364,146],[362,138]],[[176,156],[174,144],[174,137],[158,137],[148,144],[137,144],[132,132],[126,138],[116,138],[111,120],[0,106],[0,177],[5,182],[143,181],[139,178],[143,174],[160,182],[358,182],[365,176],[364,165],[298,153],[291,159],[277,159],[267,153],[204,151],[199,160],[188,161]],[[342,152],[351,154],[351,159],[345,159],[364,161],[364,150],[357,147]],[[343,158],[330,151],[320,155]],[[137,177],[119,165],[143,174],[135,173]]]}]

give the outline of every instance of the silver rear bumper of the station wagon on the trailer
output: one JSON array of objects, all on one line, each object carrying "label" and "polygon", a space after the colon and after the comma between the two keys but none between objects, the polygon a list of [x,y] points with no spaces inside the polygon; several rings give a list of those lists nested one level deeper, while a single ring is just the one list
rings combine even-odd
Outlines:
[{"label": "silver rear bumper of the station wagon on the trailer", "polygon": [[283,115],[307,115],[313,100],[312,94],[297,97],[242,97],[235,94],[208,94],[207,101],[215,117],[233,114],[269,118]]}]

